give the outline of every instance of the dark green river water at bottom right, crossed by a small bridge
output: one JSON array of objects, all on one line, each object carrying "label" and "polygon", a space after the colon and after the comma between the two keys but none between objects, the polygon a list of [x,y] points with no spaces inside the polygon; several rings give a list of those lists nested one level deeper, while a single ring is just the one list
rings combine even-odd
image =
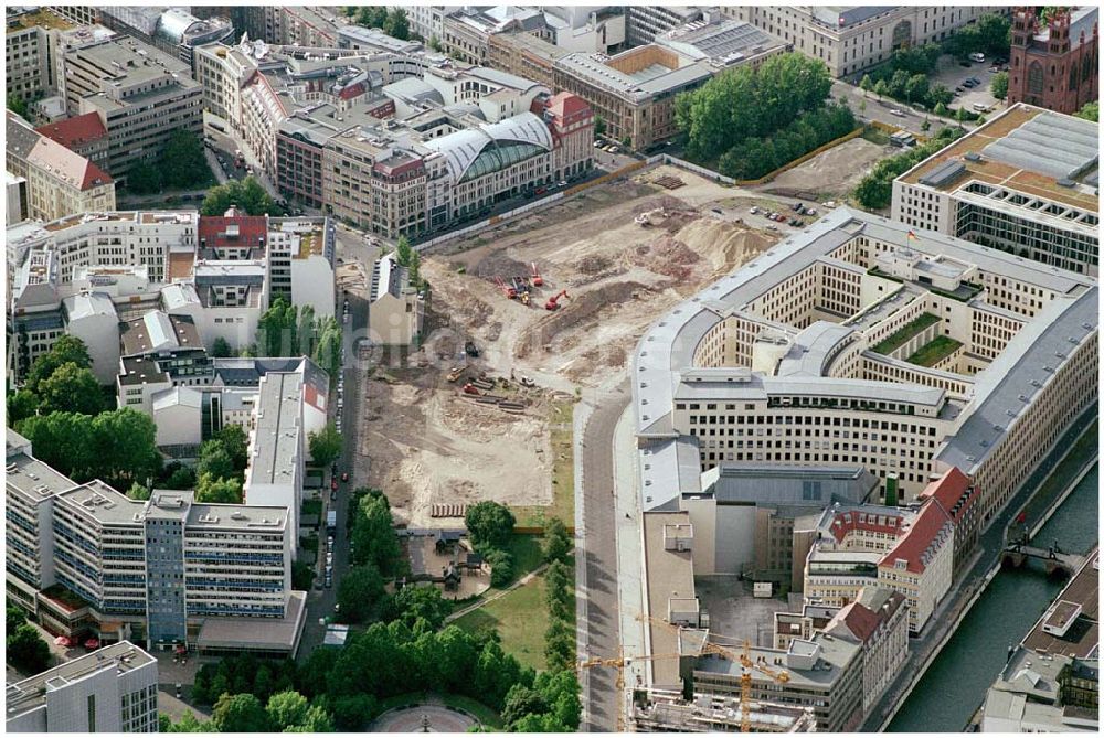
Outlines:
[{"label": "dark green river water at bottom right, crossed by a small bridge", "polygon": [[[1100,466],[1085,474],[1054,516],[1033,537],[1047,547],[1087,553],[1097,538]],[[1005,665],[1009,645],[1027,635],[1063,582],[1040,564],[1001,570],[901,706],[889,732],[958,732],[985,699]]]}]

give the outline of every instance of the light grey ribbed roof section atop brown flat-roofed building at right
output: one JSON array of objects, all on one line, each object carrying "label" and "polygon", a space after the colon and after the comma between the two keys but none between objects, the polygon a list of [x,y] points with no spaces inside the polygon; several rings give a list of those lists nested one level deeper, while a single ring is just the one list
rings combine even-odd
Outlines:
[{"label": "light grey ribbed roof section atop brown flat-roofed building at right", "polygon": [[1100,160],[1098,132],[1100,126],[1091,120],[1047,110],[985,147],[981,153],[1054,179],[1072,180]]}]

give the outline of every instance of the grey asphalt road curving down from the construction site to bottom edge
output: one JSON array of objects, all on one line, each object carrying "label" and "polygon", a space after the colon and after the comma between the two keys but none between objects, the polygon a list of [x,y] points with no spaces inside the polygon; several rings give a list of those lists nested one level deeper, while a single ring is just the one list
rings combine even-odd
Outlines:
[{"label": "grey asphalt road curving down from the construction site to bottom edge", "polygon": [[[581,443],[583,471],[583,535],[576,541],[575,556],[584,567],[585,584],[578,587],[584,598],[585,650],[590,657],[616,657],[620,649],[617,598],[617,521],[614,507],[614,428],[628,406],[628,384],[620,394],[601,398],[586,421]],[[576,439],[577,441],[578,439]],[[581,654],[582,655],[582,654]],[[617,730],[619,694],[617,670],[592,669],[583,677],[586,720],[582,730]]]}]

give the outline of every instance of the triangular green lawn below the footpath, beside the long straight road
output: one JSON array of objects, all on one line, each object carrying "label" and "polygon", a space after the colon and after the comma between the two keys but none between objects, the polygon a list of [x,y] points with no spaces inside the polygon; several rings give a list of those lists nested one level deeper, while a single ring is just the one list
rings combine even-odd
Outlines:
[{"label": "triangular green lawn below the footpath, beside the long straight road", "polygon": [[544,669],[544,631],[549,627],[544,577],[473,610],[453,624],[470,632],[498,631],[503,651],[517,656],[523,666]]}]

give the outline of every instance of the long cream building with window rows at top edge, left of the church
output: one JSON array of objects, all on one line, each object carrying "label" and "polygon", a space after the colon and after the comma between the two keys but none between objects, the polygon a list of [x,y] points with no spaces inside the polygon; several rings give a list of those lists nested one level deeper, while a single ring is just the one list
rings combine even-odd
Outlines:
[{"label": "long cream building with window rows at top edge, left of the church", "polygon": [[794,51],[820,60],[834,77],[856,75],[898,49],[943,41],[985,13],[986,6],[722,6]]}]

